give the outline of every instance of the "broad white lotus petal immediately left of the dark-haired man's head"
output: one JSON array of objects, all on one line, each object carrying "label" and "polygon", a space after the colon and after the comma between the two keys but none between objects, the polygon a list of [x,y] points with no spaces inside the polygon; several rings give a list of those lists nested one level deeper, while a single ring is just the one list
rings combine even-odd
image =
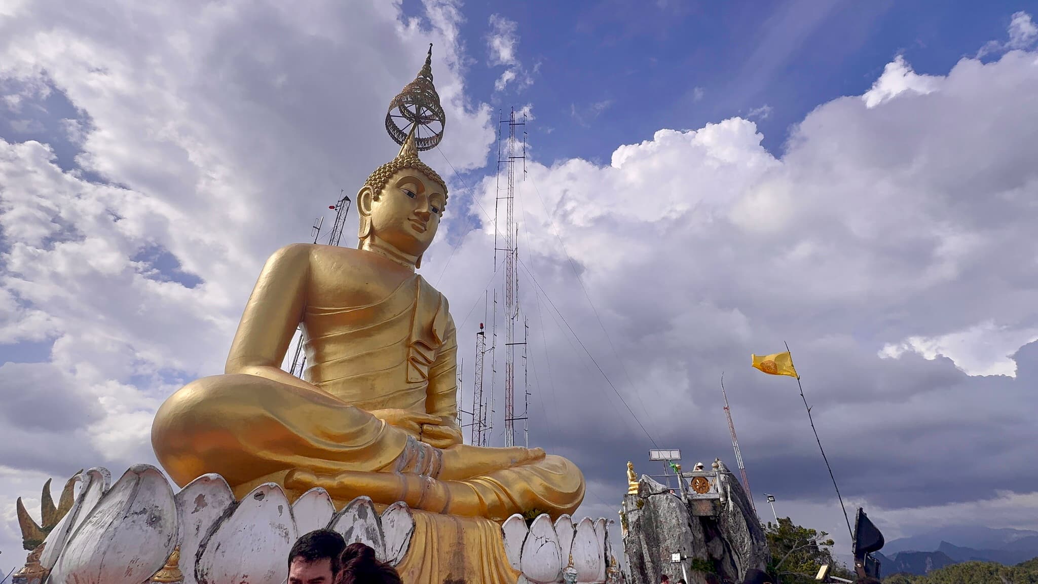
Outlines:
[{"label": "broad white lotus petal immediately left of the dark-haired man's head", "polygon": [[195,554],[198,584],[281,584],[298,538],[281,487],[261,484],[231,505],[202,537]]}]

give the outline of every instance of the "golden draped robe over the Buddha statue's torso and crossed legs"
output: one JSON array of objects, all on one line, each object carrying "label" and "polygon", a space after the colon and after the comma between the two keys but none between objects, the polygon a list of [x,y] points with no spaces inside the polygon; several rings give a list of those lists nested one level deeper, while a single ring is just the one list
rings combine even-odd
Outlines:
[{"label": "golden draped robe over the Buddha statue's torso and crossed legs", "polygon": [[[444,296],[413,274],[371,304],[306,304],[302,323],[304,376],[320,392],[239,373],[198,379],[162,405],[153,444],[177,484],[219,473],[241,497],[262,482],[284,486],[293,470],[318,477],[435,476],[438,449],[370,412],[401,408],[455,420],[457,340]],[[452,483],[455,514],[500,521],[536,508],[558,515],[583,499],[580,471],[559,456],[455,478],[444,481]]]}]

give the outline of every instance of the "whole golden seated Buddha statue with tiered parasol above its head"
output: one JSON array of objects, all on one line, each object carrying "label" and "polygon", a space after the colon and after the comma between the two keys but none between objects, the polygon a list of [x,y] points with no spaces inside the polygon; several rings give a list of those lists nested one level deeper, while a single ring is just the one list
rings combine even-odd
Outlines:
[{"label": "whole golden seated Buddha statue with tiered parasol above its head", "polygon": [[[556,517],[580,505],[583,476],[569,460],[462,442],[454,320],[446,298],[415,273],[447,200],[444,181],[418,158],[439,139],[415,135],[430,111],[443,122],[431,51],[405,88],[426,107],[401,132],[397,158],[357,193],[359,248],[277,250],[245,307],[225,374],[189,383],[156,414],[152,444],[181,486],[219,473],[239,498],[276,482],[293,499],[321,486],[339,504],[366,495],[494,521],[535,509]],[[300,324],[302,379],[280,367]]]}]

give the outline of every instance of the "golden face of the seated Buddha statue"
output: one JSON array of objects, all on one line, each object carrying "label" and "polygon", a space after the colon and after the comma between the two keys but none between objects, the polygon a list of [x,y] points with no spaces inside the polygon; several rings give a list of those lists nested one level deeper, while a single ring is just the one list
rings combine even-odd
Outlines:
[{"label": "golden face of the seated Buddha statue", "polygon": [[444,190],[420,170],[397,171],[372,197],[372,232],[405,254],[421,256],[440,224],[446,203]]}]

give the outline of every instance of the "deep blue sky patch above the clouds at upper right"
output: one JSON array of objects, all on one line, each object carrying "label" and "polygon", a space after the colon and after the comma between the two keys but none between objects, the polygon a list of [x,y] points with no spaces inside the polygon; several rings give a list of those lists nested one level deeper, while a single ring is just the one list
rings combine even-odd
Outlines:
[{"label": "deep blue sky patch above the clouds at upper right", "polygon": [[[754,120],[765,148],[781,154],[790,125],[819,104],[864,94],[896,54],[918,73],[945,73],[1003,35],[1028,4],[468,2],[461,31],[474,61],[469,91],[506,115],[531,103],[539,160],[608,162],[616,144],[650,139],[660,128],[701,128],[765,106],[768,114]],[[414,0],[404,9],[421,12]],[[532,79],[496,96],[504,68],[486,57],[492,15],[516,23],[516,53]]]}]

